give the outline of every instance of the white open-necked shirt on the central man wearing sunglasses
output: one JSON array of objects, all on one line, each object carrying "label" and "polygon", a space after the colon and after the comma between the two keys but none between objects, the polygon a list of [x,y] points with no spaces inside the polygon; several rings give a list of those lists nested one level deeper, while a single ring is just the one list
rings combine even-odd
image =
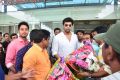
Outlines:
[{"label": "white open-necked shirt on the central man wearing sunglasses", "polygon": [[63,32],[56,35],[52,43],[52,54],[58,54],[59,57],[66,58],[70,53],[77,49],[78,39],[72,33],[71,40],[69,41]]}]

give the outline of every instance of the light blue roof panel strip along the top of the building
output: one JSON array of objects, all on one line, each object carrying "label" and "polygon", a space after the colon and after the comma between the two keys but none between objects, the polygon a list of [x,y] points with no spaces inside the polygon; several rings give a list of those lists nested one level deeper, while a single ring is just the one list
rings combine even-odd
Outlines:
[{"label": "light blue roof panel strip along the top of the building", "polygon": [[13,5],[17,10],[106,5],[116,0],[2,0],[3,5]]}]

